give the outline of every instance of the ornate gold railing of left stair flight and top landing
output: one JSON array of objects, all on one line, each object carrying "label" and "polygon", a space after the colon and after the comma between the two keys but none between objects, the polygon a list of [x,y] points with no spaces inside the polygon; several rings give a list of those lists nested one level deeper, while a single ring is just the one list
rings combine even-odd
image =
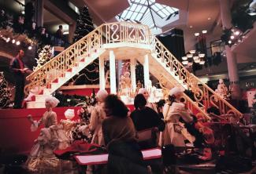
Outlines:
[{"label": "ornate gold railing of left stair flight and top landing", "polygon": [[55,79],[64,77],[66,71],[79,65],[80,58],[89,58],[98,49],[104,49],[103,45],[121,42],[150,45],[149,36],[150,30],[145,25],[132,23],[102,24],[28,75],[26,79],[29,83],[25,86],[24,92],[28,95],[31,89],[38,86],[47,87]]}]

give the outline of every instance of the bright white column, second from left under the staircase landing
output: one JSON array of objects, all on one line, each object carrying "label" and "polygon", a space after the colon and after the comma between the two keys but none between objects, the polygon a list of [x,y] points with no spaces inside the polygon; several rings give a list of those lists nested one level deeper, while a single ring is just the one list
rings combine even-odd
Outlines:
[{"label": "bright white column, second from left under the staircase landing", "polygon": [[110,93],[117,93],[116,84],[116,60],[113,51],[109,51],[109,71],[110,71]]}]

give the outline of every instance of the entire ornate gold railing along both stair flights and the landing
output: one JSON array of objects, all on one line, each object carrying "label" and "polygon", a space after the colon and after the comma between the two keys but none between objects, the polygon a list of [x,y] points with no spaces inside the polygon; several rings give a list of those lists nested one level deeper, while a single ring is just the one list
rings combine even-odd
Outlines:
[{"label": "entire ornate gold railing along both stair flights and the landing", "polygon": [[164,63],[164,66],[170,72],[173,72],[176,78],[187,85],[187,89],[194,92],[195,101],[187,101],[195,107],[203,108],[204,113],[206,113],[208,107],[214,106],[219,109],[221,114],[242,116],[235,107],[222,99],[221,96],[218,96],[194,74],[187,71],[183,64],[158,41],[158,38],[150,34],[149,27],[127,22],[102,24],[78,42],[69,46],[68,49],[65,49],[27,77],[30,83],[25,86],[25,93],[28,94],[31,89],[37,86],[50,84],[56,78],[63,77],[70,68],[78,66],[80,58],[88,59],[98,49],[106,49],[111,45],[113,47],[139,46],[139,48],[150,49],[152,55],[160,60],[161,64]]}]

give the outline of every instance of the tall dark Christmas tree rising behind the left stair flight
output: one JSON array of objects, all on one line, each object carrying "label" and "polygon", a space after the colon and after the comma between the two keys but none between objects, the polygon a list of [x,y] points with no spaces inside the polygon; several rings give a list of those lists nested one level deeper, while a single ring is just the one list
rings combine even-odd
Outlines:
[{"label": "tall dark Christmas tree rising behind the left stair flight", "polygon": [[[93,31],[95,27],[91,20],[87,6],[84,6],[80,10],[80,16],[76,21],[76,31],[74,34],[73,41],[77,42],[80,38],[83,38],[85,35]],[[85,67],[80,74],[72,78],[72,83],[74,85],[93,85],[99,83],[99,74],[98,74],[98,60],[95,60],[93,63]]]}]

